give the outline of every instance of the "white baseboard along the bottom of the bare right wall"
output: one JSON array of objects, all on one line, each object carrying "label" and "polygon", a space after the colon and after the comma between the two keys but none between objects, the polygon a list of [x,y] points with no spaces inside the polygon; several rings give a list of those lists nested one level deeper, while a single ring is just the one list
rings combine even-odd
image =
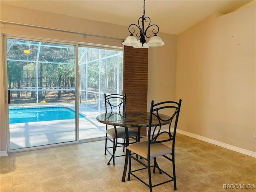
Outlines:
[{"label": "white baseboard along the bottom of the bare right wall", "polygon": [[213,140],[213,139],[210,139],[210,138],[206,138],[204,136],[200,136],[200,135],[190,133],[190,132],[186,132],[186,131],[179,130],[179,129],[177,129],[176,132],[256,158],[256,152],[253,152],[253,151],[249,151],[249,150],[246,150],[246,149],[243,149],[243,148],[239,148],[239,147],[236,147],[236,146],[233,146],[233,145],[230,145],[230,144],[226,144],[226,143],[223,143],[223,142],[220,142],[220,141],[216,141],[216,140]]}]

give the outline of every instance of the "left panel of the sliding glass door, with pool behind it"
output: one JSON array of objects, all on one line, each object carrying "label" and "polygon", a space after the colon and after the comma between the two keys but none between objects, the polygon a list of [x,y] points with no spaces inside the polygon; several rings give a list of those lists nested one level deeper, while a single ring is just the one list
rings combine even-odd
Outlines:
[{"label": "left panel of the sliding glass door, with pool behind it", "polygon": [[5,41],[10,151],[76,141],[76,46]]}]

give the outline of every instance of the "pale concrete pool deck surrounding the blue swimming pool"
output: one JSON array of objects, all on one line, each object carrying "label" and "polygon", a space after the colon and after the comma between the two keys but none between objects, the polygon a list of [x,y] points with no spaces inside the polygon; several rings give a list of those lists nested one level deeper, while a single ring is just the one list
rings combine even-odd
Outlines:
[{"label": "pale concrete pool deck surrounding the blue swimming pool", "polygon": [[[10,106],[10,108],[46,106],[65,106],[75,109],[74,104]],[[106,125],[96,120],[96,116],[102,112],[80,104],[79,113],[85,116],[79,118],[79,140],[94,140],[105,136]],[[69,142],[74,141],[75,138],[75,119],[10,124],[11,150]]]}]

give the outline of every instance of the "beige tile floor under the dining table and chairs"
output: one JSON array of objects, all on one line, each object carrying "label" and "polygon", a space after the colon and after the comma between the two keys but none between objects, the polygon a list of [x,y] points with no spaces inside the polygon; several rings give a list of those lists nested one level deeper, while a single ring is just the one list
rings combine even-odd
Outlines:
[{"label": "beige tile floor under the dining table and chairs", "polygon": [[[175,156],[177,191],[256,191],[248,187],[248,184],[256,184],[256,159],[253,157],[182,134],[177,134],[176,137]],[[116,158],[114,166],[107,165],[109,158],[109,154],[104,155],[104,141],[12,153],[0,158],[0,191],[149,191],[144,184],[132,176],[130,181],[127,181],[126,176],[126,182],[121,182],[124,157]],[[158,164],[167,165],[163,160]],[[154,174],[156,179],[158,176],[159,174]],[[239,184],[244,184],[241,186],[247,189],[228,188]],[[224,185],[228,189],[225,189]],[[157,186],[153,191],[173,191],[173,182]]]}]

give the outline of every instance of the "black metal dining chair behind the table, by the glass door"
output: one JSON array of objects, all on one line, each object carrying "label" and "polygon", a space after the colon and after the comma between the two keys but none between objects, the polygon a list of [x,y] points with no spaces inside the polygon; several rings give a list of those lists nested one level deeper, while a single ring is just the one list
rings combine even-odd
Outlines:
[{"label": "black metal dining chair behind the table, by the glass door", "polygon": [[[122,114],[122,112],[126,111],[126,94],[120,95],[120,94],[110,94],[106,95],[104,94],[105,99],[105,109],[107,112],[119,112],[119,114]],[[134,139],[134,142],[137,142],[140,140],[140,133],[137,130],[128,128],[128,135],[129,138]],[[119,139],[124,139],[123,142],[118,142]],[[107,146],[108,141],[112,142],[112,146]],[[113,159],[113,165],[115,164],[115,158],[120,156],[125,156],[125,154],[115,156],[116,149],[118,147],[123,147],[123,152],[125,152],[126,147],[126,137],[125,137],[125,128],[124,127],[116,127],[114,128],[108,128],[108,125],[106,125],[106,140],[105,140],[105,155],[106,152],[108,152],[111,155],[110,160],[108,161],[108,165],[110,164],[110,161]],[[109,149],[112,149],[110,151]]]}]

